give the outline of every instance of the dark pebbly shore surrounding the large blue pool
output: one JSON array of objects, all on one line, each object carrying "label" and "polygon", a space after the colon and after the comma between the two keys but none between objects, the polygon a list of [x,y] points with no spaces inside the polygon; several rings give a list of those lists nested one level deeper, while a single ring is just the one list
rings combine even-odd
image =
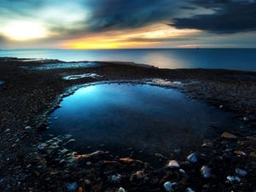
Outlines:
[{"label": "dark pebbly shore surrounding the large blue pool", "polygon": [[[255,72],[171,70],[123,62],[54,67],[60,62],[0,58],[0,191],[256,190]],[[48,64],[51,67],[47,70],[37,69]],[[89,67],[84,67],[87,64]],[[84,73],[94,75],[77,76]],[[107,151],[78,154],[67,148],[75,142],[69,135],[47,141],[41,137],[49,113],[74,87],[106,81],[143,83],[148,79],[176,87],[191,100],[231,111],[246,126],[241,131],[227,127],[186,157],[178,152],[168,157],[155,154],[163,164],[157,169],[132,156],[116,157]]]}]

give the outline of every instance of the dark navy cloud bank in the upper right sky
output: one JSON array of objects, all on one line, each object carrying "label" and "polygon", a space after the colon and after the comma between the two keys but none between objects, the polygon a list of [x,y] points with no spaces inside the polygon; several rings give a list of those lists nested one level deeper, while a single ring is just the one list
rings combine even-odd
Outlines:
[{"label": "dark navy cloud bank in the upper right sky", "polygon": [[211,15],[193,15],[175,18],[171,26],[178,29],[199,29],[214,33],[235,33],[256,30],[256,2],[254,1],[193,1],[196,6],[212,9]]}]

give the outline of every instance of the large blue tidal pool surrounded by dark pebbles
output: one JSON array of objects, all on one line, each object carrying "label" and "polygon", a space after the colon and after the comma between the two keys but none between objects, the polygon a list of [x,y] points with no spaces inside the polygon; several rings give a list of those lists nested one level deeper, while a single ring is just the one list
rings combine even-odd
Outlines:
[{"label": "large blue tidal pool surrounded by dark pebbles", "polygon": [[[96,84],[67,96],[46,134],[71,134],[79,153],[98,149],[137,158],[189,152],[205,139],[239,128],[231,113],[192,102],[182,92],[149,84]],[[149,155],[149,156],[148,156]]]}]

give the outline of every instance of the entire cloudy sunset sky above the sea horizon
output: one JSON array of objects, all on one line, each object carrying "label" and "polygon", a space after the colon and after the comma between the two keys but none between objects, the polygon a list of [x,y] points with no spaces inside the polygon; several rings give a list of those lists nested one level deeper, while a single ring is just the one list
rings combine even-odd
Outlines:
[{"label": "entire cloudy sunset sky above the sea horizon", "polygon": [[0,0],[0,49],[256,48],[256,0]]}]

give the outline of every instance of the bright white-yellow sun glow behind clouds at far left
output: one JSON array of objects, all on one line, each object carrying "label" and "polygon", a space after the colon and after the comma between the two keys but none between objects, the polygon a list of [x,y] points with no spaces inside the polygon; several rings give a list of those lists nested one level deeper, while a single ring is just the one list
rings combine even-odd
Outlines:
[{"label": "bright white-yellow sun glow behind clouds at far left", "polygon": [[47,32],[43,26],[30,21],[17,21],[9,23],[0,29],[4,36],[16,41],[45,38]]}]

